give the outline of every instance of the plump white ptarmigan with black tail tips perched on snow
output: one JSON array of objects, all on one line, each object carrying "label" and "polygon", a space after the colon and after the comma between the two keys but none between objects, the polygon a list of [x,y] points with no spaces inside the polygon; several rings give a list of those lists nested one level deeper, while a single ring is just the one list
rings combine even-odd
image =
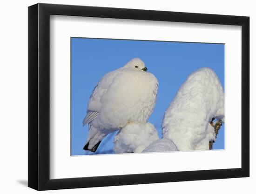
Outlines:
[{"label": "plump white ptarmigan with black tail tips perched on snow", "polygon": [[125,66],[104,75],[94,87],[83,126],[89,134],[84,150],[95,152],[101,140],[128,123],[146,123],[156,101],[158,81],[135,58]]}]

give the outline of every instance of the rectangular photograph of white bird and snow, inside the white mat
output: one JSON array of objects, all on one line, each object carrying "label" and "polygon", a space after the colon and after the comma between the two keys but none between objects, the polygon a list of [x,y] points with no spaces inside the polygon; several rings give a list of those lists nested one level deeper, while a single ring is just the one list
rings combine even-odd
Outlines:
[{"label": "rectangular photograph of white bird and snow, inside the white mat", "polygon": [[225,149],[225,44],[70,45],[71,156]]}]

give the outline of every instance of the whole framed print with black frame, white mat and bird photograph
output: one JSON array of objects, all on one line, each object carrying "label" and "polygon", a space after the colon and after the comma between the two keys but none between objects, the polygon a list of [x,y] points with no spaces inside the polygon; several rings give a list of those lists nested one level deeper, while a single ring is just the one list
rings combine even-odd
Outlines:
[{"label": "whole framed print with black frame, white mat and bird photograph", "polygon": [[249,176],[249,17],[28,7],[28,187]]}]

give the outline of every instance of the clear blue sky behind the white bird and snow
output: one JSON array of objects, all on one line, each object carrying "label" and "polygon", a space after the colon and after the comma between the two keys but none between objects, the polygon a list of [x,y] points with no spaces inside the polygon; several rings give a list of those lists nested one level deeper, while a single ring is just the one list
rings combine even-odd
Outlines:
[{"label": "clear blue sky behind the white bird and snow", "polygon": [[[189,74],[210,67],[224,88],[223,44],[71,38],[71,155],[93,154],[82,149],[88,136],[88,126],[82,127],[82,120],[94,86],[104,74],[135,57],[143,60],[159,81],[155,109],[148,121],[160,137],[163,114]],[[114,136],[102,140],[94,154],[113,153]],[[224,126],[213,148],[224,149]]]}]

